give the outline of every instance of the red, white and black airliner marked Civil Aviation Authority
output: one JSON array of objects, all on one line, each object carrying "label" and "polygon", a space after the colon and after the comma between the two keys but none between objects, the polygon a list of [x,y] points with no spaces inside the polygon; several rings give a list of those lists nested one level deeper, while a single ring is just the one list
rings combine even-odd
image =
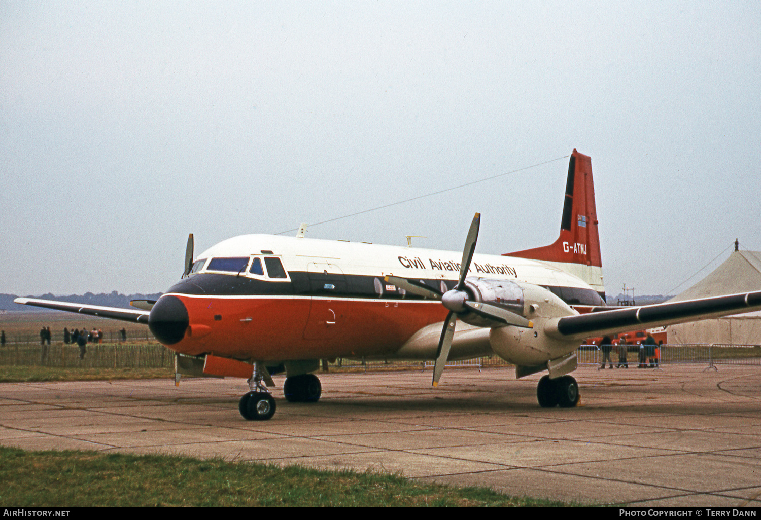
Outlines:
[{"label": "red, white and black airliner marked Civil Aviation Authority", "polygon": [[[476,213],[463,252],[297,236],[235,236],[194,257],[156,301],[118,309],[34,298],[16,303],[147,323],[174,350],[177,374],[247,378],[247,420],[267,420],[272,373],[291,402],[314,403],[319,360],[447,360],[497,355],[517,378],[546,371],[542,407],[575,407],[584,338],[761,309],[761,291],[676,303],[605,304],[590,157],[573,151],[555,243],[476,254]],[[179,376],[177,376],[179,377]]]}]

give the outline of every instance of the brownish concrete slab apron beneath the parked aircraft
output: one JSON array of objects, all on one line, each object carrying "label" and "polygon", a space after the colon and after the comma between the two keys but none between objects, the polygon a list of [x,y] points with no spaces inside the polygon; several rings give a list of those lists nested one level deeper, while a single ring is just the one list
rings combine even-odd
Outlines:
[{"label": "brownish concrete slab apron beneath the parked aircraft", "polygon": [[761,506],[761,367],[578,369],[581,406],[537,405],[514,369],[320,374],[272,420],[239,379],[0,384],[0,444],[373,468],[511,495],[635,506]]}]

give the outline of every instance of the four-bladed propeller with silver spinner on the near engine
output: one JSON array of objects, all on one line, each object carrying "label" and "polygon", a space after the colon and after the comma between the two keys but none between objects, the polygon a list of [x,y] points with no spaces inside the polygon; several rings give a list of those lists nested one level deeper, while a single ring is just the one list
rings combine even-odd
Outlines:
[{"label": "four-bladed propeller with silver spinner on the near engine", "polygon": [[447,319],[444,320],[444,328],[441,329],[441,338],[438,340],[438,350],[436,352],[436,363],[433,369],[433,385],[438,385],[441,373],[444,372],[444,366],[447,364],[449,350],[452,347],[452,338],[454,336],[454,327],[457,323],[458,314],[474,312],[486,319],[495,322],[504,323],[505,325],[515,325],[517,327],[533,327],[533,323],[521,315],[510,312],[507,309],[492,305],[490,303],[473,302],[471,296],[465,290],[465,278],[470,269],[470,261],[473,260],[473,252],[476,251],[476,242],[478,241],[479,226],[481,224],[481,214],[476,213],[473,222],[470,224],[468,236],[465,239],[463,249],[463,262],[460,264],[460,277],[457,280],[457,286],[446,293],[428,287],[421,282],[407,280],[396,276],[384,277],[384,280],[395,284],[397,287],[406,290],[409,293],[417,294],[425,298],[434,298],[441,300],[441,303],[449,310]]}]

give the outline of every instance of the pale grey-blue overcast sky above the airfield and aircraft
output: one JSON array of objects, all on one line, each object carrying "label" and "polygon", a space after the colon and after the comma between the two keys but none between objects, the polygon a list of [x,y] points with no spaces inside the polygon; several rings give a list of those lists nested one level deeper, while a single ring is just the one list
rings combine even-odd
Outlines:
[{"label": "pale grey-blue overcast sky above the airfield and aircraft", "polygon": [[[573,148],[607,293],[761,249],[758,3],[0,3],[0,293],[160,292],[188,233],[199,253]],[[479,211],[477,252],[543,246],[567,169],[307,236],[461,251]]]}]

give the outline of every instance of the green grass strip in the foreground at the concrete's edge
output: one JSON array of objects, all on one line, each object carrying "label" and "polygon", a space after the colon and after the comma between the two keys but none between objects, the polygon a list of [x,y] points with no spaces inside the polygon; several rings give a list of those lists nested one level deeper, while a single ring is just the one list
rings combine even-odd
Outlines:
[{"label": "green grass strip in the foreground at the concrete's edge", "polygon": [[12,506],[568,506],[372,471],[281,468],[221,458],[0,447]]}]

